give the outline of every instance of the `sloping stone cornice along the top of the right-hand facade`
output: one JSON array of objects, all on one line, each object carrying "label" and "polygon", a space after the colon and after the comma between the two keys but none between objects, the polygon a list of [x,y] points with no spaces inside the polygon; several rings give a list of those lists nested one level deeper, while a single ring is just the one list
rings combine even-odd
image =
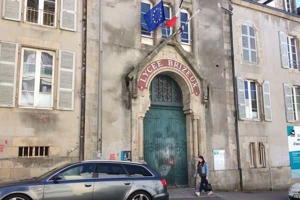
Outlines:
[{"label": "sloping stone cornice along the top of the right-hand facade", "polygon": [[[290,12],[287,12],[285,10],[281,10],[281,9],[271,7],[271,6],[268,6],[268,5],[264,5],[264,4],[261,4],[261,3],[257,3],[255,1],[231,0],[231,3],[241,5],[241,6],[244,6],[244,7],[249,7],[251,9],[258,10],[258,11],[261,11],[261,12],[265,12],[265,13],[268,13],[268,14],[272,14],[274,16],[279,16],[281,18],[285,18],[285,19],[288,19],[288,20],[300,22],[300,16],[297,15],[297,14],[290,13]],[[232,11],[234,13],[234,8],[233,8]]]}]

